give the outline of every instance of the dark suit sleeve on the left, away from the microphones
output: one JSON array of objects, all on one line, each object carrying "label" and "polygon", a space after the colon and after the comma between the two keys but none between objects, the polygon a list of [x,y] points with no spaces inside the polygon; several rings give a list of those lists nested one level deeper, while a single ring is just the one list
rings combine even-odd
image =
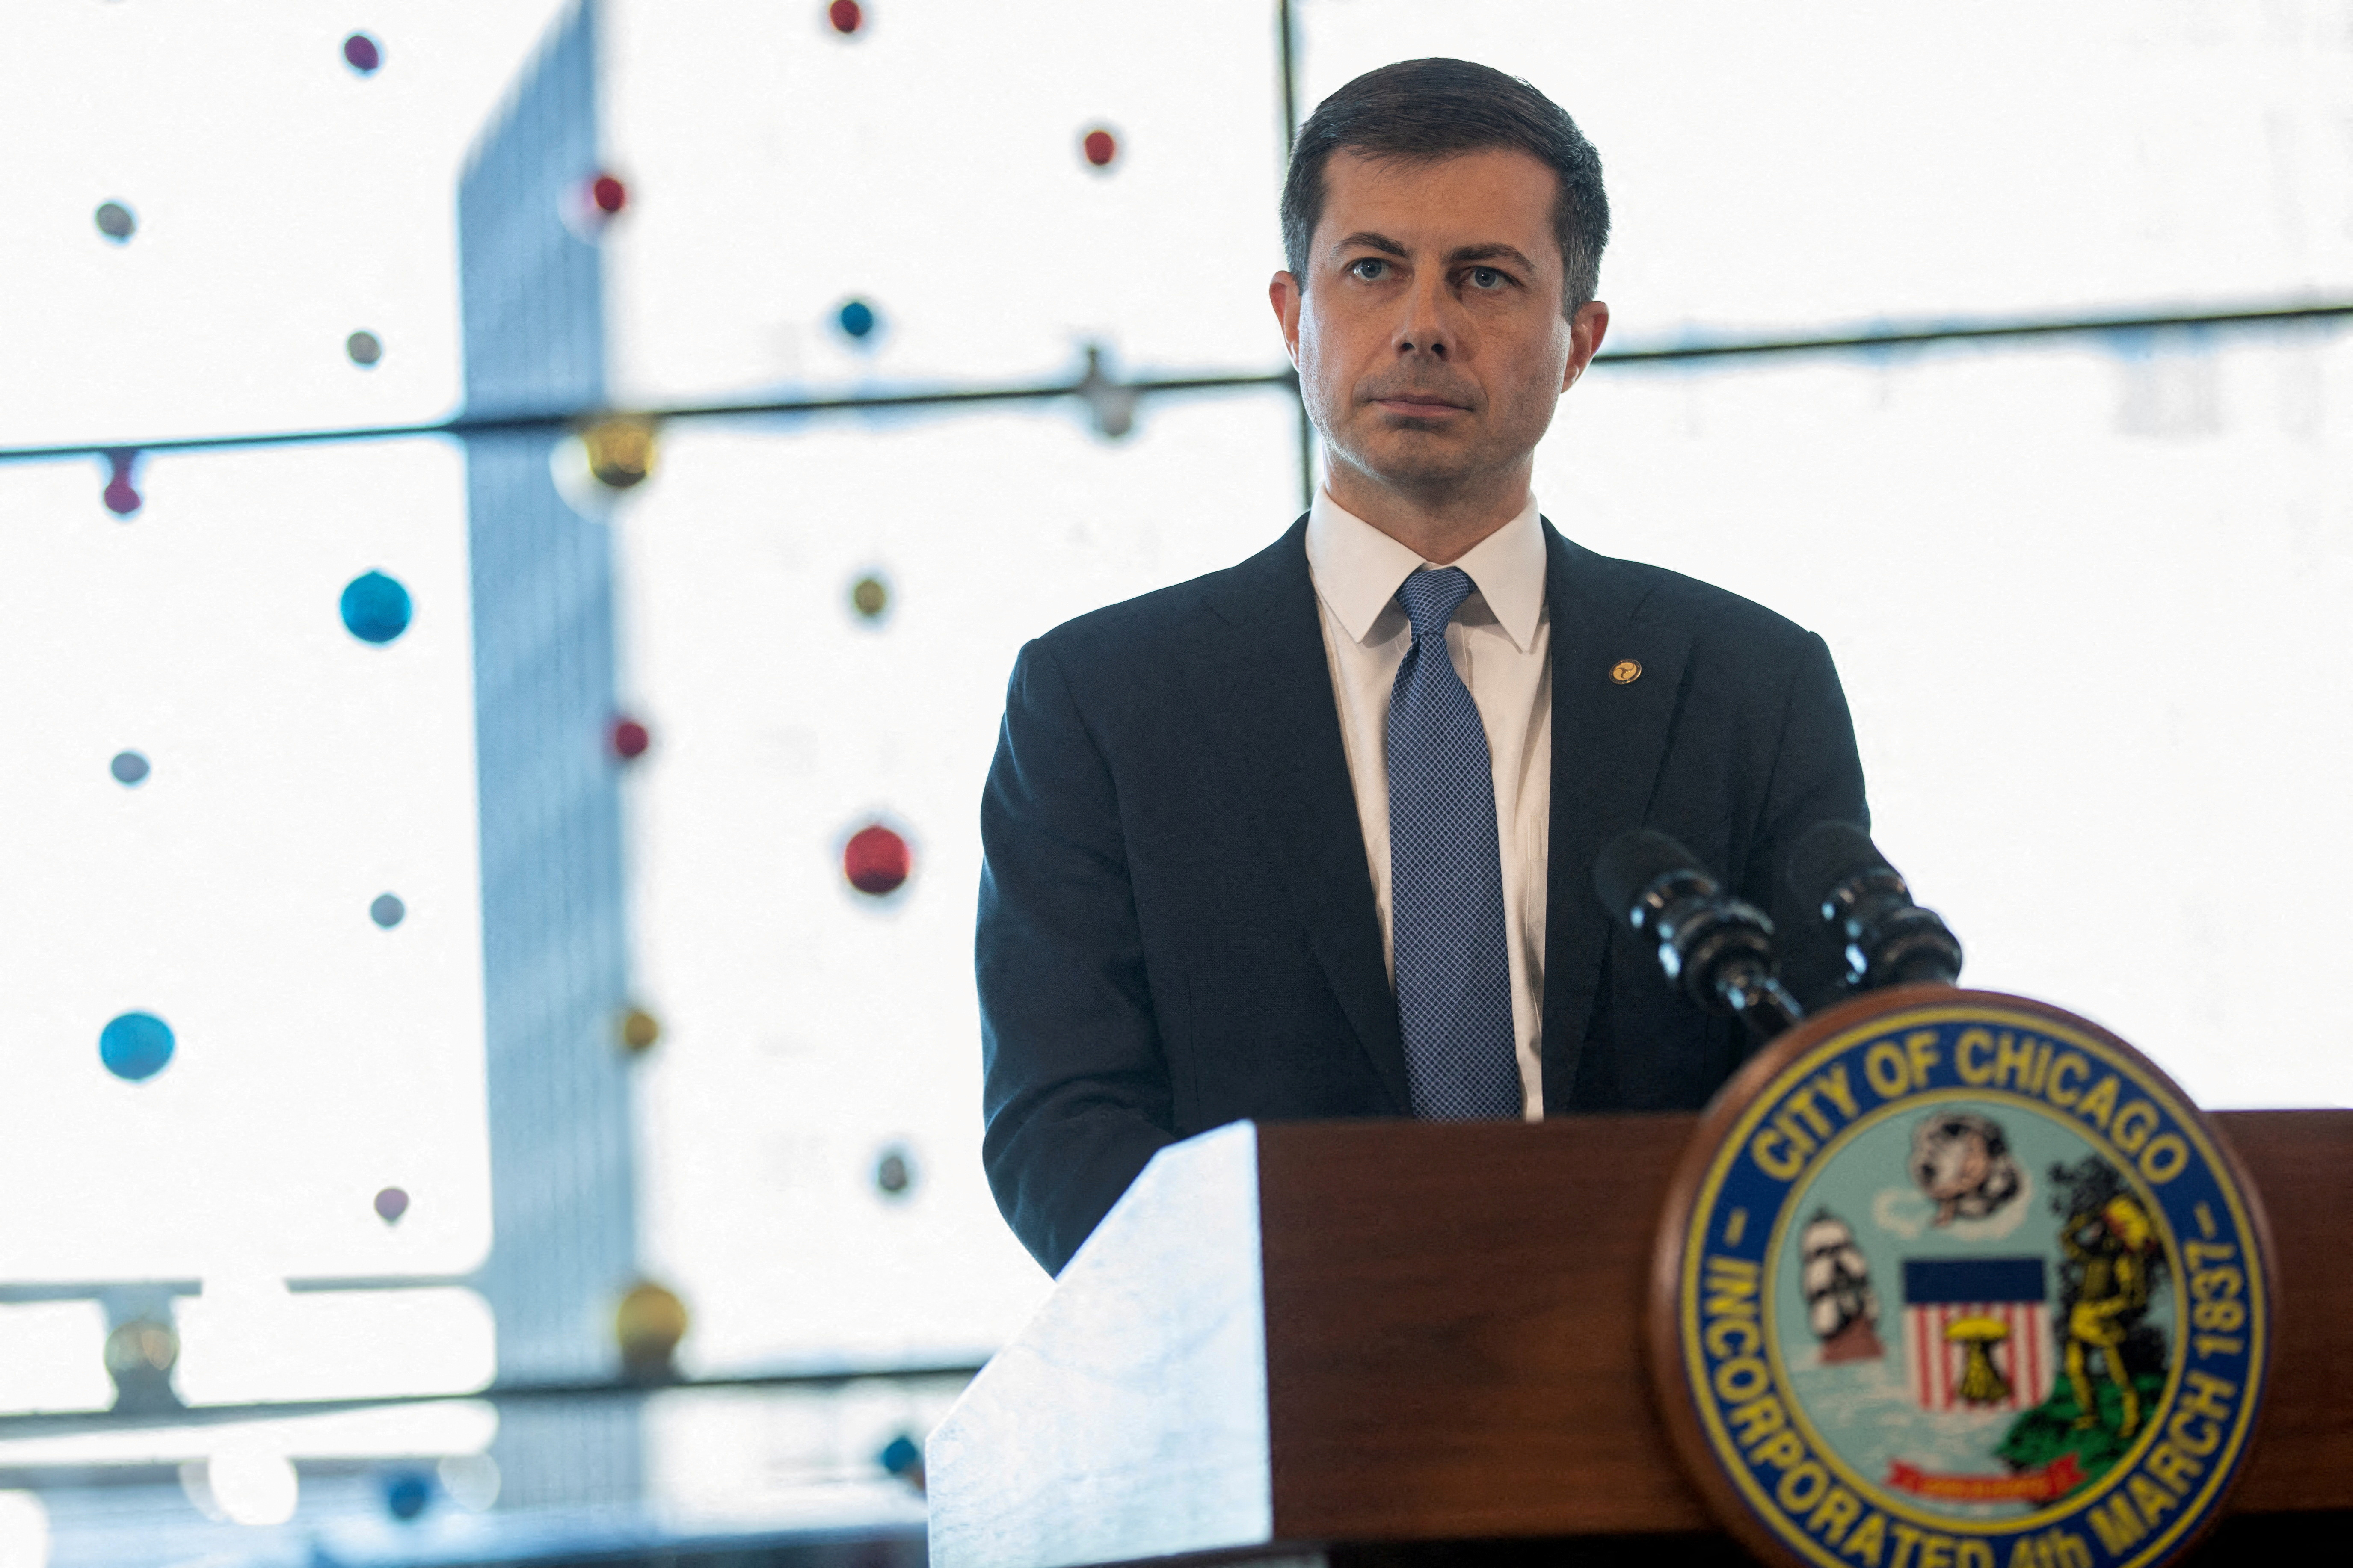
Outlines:
[{"label": "dark suit sleeve on the left, away from the microphones", "polygon": [[981,849],[981,1161],[1059,1274],[1174,1133],[1118,788],[1042,642],[1005,693]]}]

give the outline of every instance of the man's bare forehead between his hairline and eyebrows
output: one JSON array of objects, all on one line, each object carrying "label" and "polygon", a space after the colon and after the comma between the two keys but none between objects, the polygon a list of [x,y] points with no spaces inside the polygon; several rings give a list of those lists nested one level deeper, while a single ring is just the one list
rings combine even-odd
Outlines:
[{"label": "man's bare forehead between his hairline and eyebrows", "polygon": [[1320,247],[1379,233],[1405,247],[1511,244],[1560,263],[1553,209],[1560,176],[1520,148],[1473,148],[1440,158],[1384,158],[1337,148],[1325,162]]}]

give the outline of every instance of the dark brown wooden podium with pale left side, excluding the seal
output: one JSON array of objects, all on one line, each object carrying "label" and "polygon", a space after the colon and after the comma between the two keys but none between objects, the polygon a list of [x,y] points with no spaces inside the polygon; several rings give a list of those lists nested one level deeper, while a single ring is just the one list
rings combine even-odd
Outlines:
[{"label": "dark brown wooden podium with pale left side, excluding the seal", "polygon": [[[1165,1150],[932,1434],[932,1566],[1746,1561],[1642,1361],[1694,1124],[1238,1121]],[[2235,1559],[2353,1509],[2353,1112],[2214,1124],[2278,1276],[2254,1455],[2198,1554]]]}]

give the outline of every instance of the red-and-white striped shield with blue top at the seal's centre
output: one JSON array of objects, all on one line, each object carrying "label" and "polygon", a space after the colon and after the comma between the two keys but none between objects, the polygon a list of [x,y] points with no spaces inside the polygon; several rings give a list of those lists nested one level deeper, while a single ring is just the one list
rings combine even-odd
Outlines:
[{"label": "red-and-white striped shield with blue top at the seal's centre", "polygon": [[2040,1258],[1908,1258],[1904,1359],[1925,1410],[2031,1410],[2057,1359]]}]

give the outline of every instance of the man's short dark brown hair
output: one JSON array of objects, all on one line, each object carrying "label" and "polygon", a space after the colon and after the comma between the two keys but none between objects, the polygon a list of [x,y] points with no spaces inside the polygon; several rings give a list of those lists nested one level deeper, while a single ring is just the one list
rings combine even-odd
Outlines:
[{"label": "man's short dark brown hair", "polygon": [[1553,200],[1553,237],[1567,263],[1560,308],[1572,315],[1593,299],[1609,242],[1602,160],[1577,122],[1520,78],[1466,59],[1409,59],[1367,71],[1318,103],[1299,127],[1282,181],[1282,259],[1299,287],[1322,219],[1325,162],[1341,148],[1395,162],[1482,148],[1529,153],[1560,176]]}]

